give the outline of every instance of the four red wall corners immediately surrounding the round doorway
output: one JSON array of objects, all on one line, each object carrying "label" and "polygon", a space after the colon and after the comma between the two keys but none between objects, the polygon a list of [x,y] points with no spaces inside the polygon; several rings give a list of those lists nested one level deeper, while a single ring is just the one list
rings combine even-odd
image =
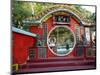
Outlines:
[{"label": "four red wall corners immediately surrounding the round doorway", "polygon": [[[47,25],[48,25],[48,32],[54,27],[53,25],[53,18],[49,18],[47,21],[46,21]],[[79,23],[73,18],[73,17],[70,17],[70,25],[66,25],[68,26],[69,28],[71,28],[71,30],[73,32],[75,32],[75,25],[79,25]],[[74,57],[75,55],[75,49],[68,55],[66,56],[63,56],[63,57],[67,57],[67,58],[71,58],[71,57]],[[52,58],[52,57],[59,57],[57,55],[54,55],[50,50],[49,48],[47,48],[47,58]]]}]

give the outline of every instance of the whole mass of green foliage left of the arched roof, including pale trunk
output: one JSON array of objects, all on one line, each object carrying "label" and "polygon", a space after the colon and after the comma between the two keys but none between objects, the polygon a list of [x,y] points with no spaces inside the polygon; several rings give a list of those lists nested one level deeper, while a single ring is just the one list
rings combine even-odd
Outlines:
[{"label": "whole mass of green foliage left of the arched roof, including pale trunk", "polygon": [[[34,3],[24,1],[12,1],[12,22],[16,27],[23,26],[22,21],[25,19],[31,20],[32,15],[39,15],[43,9],[47,8],[49,3]],[[33,10],[32,10],[33,9]],[[33,13],[34,12],[34,13]],[[23,27],[26,30],[26,27]]]}]

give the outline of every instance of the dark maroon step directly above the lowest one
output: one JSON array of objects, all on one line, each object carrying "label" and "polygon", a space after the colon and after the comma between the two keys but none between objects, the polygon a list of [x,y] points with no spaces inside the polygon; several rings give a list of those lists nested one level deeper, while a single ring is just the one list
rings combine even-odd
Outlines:
[{"label": "dark maroon step directly above the lowest one", "polygon": [[53,61],[53,62],[32,62],[32,63],[26,63],[21,64],[19,66],[20,69],[25,68],[44,68],[44,67],[60,67],[60,66],[79,66],[79,65],[95,65],[94,60],[87,60],[87,61],[80,61],[80,60],[74,60],[74,61]]}]

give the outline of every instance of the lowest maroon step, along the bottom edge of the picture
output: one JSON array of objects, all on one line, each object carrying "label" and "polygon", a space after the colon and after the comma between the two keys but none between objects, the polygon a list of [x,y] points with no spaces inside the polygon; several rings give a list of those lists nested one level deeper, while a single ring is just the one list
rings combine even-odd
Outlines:
[{"label": "lowest maroon step, along the bottom edge of the picture", "polygon": [[96,69],[94,65],[84,66],[60,66],[60,67],[44,67],[44,68],[27,68],[21,69],[13,73],[39,73],[39,72],[56,72],[56,71],[72,71],[72,70],[88,70]]}]

